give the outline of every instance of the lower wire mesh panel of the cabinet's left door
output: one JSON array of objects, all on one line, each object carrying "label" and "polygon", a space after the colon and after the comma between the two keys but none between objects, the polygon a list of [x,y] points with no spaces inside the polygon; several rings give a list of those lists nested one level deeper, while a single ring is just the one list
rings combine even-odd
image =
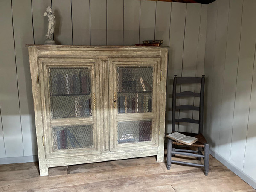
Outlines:
[{"label": "lower wire mesh panel of the cabinet's left door", "polygon": [[93,147],[93,125],[52,127],[53,149]]}]

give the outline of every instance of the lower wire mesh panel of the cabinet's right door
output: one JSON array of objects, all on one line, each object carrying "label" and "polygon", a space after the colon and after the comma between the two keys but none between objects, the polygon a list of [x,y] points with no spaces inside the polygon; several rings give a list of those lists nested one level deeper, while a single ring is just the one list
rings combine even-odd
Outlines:
[{"label": "lower wire mesh panel of the cabinet's right door", "polygon": [[118,143],[151,141],[152,121],[118,122]]}]

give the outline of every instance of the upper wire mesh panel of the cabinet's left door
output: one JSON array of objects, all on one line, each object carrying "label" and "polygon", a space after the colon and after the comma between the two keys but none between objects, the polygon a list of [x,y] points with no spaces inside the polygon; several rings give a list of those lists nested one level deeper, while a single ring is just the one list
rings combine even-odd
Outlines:
[{"label": "upper wire mesh panel of the cabinet's left door", "polygon": [[92,116],[90,68],[49,68],[52,119]]}]

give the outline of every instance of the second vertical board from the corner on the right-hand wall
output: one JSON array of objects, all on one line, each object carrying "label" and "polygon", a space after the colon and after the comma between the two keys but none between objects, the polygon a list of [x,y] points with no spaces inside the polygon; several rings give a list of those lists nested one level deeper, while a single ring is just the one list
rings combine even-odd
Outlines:
[{"label": "second vertical board from the corner on the right-hand wall", "polygon": [[221,125],[221,100],[226,58],[229,1],[218,1],[215,57],[212,71],[214,75],[212,76],[212,94],[210,96],[212,104],[209,124],[209,144],[212,150],[217,152]]}]

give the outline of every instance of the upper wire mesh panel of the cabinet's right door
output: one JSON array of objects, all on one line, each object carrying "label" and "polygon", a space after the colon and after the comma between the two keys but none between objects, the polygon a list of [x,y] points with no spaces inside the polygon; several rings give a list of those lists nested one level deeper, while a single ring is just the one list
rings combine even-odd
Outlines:
[{"label": "upper wire mesh panel of the cabinet's right door", "polygon": [[152,111],[153,67],[117,67],[118,113]]}]

